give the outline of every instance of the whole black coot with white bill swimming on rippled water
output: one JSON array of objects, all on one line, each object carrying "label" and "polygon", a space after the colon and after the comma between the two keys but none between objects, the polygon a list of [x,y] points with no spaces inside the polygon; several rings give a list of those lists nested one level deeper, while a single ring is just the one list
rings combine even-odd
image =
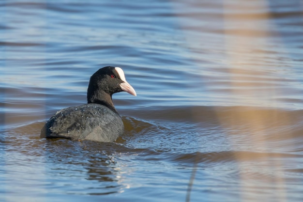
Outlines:
[{"label": "whole black coot with white bill swimming on rippled water", "polygon": [[120,67],[106,66],[95,72],[87,90],[88,104],[61,109],[41,130],[41,138],[67,138],[112,142],[124,125],[112,102],[112,94],[125,91],[136,96]]}]

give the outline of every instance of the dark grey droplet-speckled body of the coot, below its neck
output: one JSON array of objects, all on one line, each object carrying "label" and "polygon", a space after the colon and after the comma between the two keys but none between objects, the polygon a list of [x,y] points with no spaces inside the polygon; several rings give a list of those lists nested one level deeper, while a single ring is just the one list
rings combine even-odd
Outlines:
[{"label": "dark grey droplet-speckled body of the coot, below its neck", "polygon": [[73,140],[115,141],[124,126],[119,114],[99,104],[86,104],[58,111],[45,124],[41,135]]}]

